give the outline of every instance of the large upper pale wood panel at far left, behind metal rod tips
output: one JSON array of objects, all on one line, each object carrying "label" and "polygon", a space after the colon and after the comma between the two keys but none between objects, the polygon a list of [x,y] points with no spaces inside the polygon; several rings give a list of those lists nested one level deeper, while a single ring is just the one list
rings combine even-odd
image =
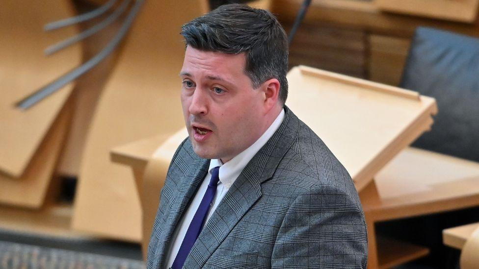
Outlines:
[{"label": "large upper pale wood panel at far left, behind metal rod tips", "polygon": [[45,56],[43,49],[78,33],[68,27],[46,33],[43,25],[74,15],[67,0],[0,2],[0,170],[19,178],[38,150],[73,84],[27,111],[15,103],[81,63],[80,45]]}]

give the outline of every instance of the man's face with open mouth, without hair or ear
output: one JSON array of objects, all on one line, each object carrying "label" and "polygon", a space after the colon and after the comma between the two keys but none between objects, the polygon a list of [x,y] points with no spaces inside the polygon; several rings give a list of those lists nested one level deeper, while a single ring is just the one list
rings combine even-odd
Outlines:
[{"label": "man's face with open mouth, without hair or ear", "polygon": [[195,153],[231,160],[265,131],[264,93],[244,73],[245,53],[186,48],[181,102]]}]

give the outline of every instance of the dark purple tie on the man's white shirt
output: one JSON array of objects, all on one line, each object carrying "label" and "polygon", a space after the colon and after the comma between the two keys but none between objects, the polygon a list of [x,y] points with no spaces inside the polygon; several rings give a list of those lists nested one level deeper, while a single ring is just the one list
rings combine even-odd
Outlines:
[{"label": "dark purple tie on the man's white shirt", "polygon": [[213,201],[214,194],[216,193],[216,187],[218,186],[219,181],[219,166],[213,168],[211,171],[211,180],[208,184],[208,189],[206,189],[205,196],[201,200],[200,206],[189,224],[188,230],[186,231],[185,238],[181,243],[180,250],[176,255],[175,261],[171,266],[172,269],[180,269],[185,263],[186,256],[188,256],[191,248],[193,247],[196,239],[200,235],[201,228],[208,214],[208,209],[210,209],[211,202]]}]

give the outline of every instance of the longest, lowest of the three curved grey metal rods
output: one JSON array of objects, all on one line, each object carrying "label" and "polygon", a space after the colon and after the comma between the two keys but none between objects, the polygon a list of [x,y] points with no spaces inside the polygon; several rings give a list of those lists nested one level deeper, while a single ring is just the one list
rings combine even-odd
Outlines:
[{"label": "longest, lowest of the three curved grey metal rods", "polygon": [[42,100],[53,94],[54,92],[61,89],[63,86],[67,85],[68,83],[72,82],[74,79],[78,78],[80,75],[86,73],[98,63],[100,63],[106,56],[108,56],[120,43],[123,37],[128,32],[128,29],[133,23],[133,20],[138,13],[140,7],[143,5],[144,0],[136,0],[134,3],[130,13],[126,17],[123,25],[121,26],[118,33],[113,37],[113,39],[106,45],[102,51],[96,54],[94,57],[89,59],[83,65],[77,67],[76,69],[63,74],[53,82],[49,83],[48,85],[40,88],[39,90],[35,91],[33,94],[29,95],[28,97],[20,100],[16,103],[16,106],[21,109],[28,109],[32,105],[36,104],[38,101]]}]

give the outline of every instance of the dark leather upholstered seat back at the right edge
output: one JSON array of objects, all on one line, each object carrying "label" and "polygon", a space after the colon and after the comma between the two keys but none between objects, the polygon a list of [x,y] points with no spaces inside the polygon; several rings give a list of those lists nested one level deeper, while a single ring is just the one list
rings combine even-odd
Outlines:
[{"label": "dark leather upholstered seat back at the right edge", "polygon": [[479,39],[417,28],[400,86],[436,98],[439,108],[413,146],[479,161]]}]

